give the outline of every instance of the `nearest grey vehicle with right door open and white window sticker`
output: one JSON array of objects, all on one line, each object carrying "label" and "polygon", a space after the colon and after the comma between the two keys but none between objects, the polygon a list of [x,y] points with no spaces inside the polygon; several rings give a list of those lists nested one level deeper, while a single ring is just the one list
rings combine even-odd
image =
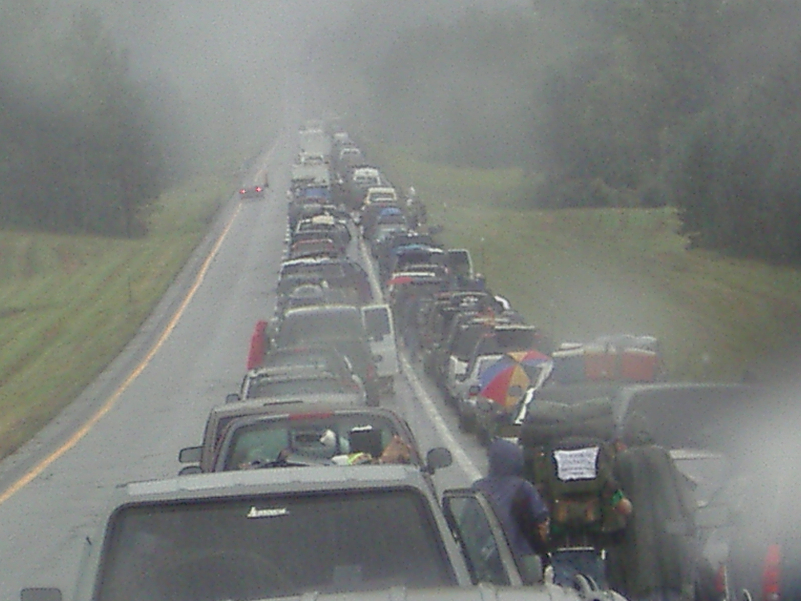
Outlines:
[{"label": "nearest grey vehicle with right door open and white window sticker", "polygon": [[[480,493],[449,490],[440,506],[413,466],[286,467],[134,482],[115,490],[104,517],[86,538],[70,601],[344,599],[388,589],[392,599],[430,589],[442,599],[448,591],[473,598],[466,590],[478,583],[529,584],[519,594],[531,601],[615,596],[582,578],[576,591],[544,583],[536,561],[521,572]],[[60,601],[62,593],[34,587],[21,598]]]}]

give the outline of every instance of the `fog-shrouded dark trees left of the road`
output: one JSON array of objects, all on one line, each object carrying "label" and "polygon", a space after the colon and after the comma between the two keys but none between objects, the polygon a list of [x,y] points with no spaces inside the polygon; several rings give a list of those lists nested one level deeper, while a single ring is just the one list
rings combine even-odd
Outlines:
[{"label": "fog-shrouded dark trees left of the road", "polygon": [[145,91],[99,14],[0,3],[0,227],[141,236],[164,183]]}]

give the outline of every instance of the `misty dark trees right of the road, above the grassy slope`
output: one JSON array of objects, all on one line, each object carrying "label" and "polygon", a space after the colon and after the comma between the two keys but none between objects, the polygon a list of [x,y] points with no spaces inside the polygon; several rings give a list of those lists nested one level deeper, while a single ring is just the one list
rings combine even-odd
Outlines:
[{"label": "misty dark trees right of the road, above the grassy slope", "polygon": [[531,0],[360,52],[366,8],[319,58],[366,127],[524,167],[532,208],[669,204],[696,246],[801,264],[795,0]]}]

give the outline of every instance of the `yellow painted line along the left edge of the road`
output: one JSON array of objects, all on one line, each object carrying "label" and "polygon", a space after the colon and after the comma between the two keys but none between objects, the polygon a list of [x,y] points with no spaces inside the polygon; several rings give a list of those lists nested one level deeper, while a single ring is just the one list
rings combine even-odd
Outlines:
[{"label": "yellow painted line along the left edge of the road", "polygon": [[215,242],[214,248],[211,248],[211,252],[209,252],[206,260],[203,261],[203,265],[198,272],[198,275],[195,277],[195,283],[192,284],[191,288],[189,288],[189,292],[187,292],[187,296],[183,298],[181,305],[178,309],[176,309],[175,314],[172,316],[170,323],[167,324],[167,327],[159,336],[159,340],[155,342],[153,348],[150,349],[150,352],[147,353],[147,356],[137,365],[136,369],[134,369],[131,374],[125,378],[125,381],[119,388],[117,388],[111,397],[108,397],[108,400],[103,403],[103,406],[98,409],[97,413],[95,413],[92,417],[87,420],[83,426],[81,426],[78,431],[76,431],[70,438],[62,445],[59,446],[58,449],[54,450],[50,455],[46,458],[42,459],[42,461],[38,462],[36,466],[34,466],[27,474],[19,478],[17,482],[14,482],[11,486],[9,486],[2,494],[0,494],[0,504],[8,501],[14,494],[17,494],[19,490],[21,490],[24,486],[29,484],[34,478],[36,478],[39,474],[42,474],[44,470],[47,469],[56,459],[60,458],[63,454],[65,454],[68,450],[70,450],[73,446],[75,446],[78,441],[81,440],[84,436],[86,436],[89,430],[92,429],[93,426],[97,422],[99,422],[106,413],[108,413],[112,407],[116,404],[119,397],[125,392],[128,386],[139,377],[139,374],[144,371],[147,365],[153,360],[155,357],[155,353],[159,352],[159,349],[162,347],[167,338],[170,336],[172,331],[175,329],[175,326],[178,325],[178,321],[180,320],[181,316],[183,316],[183,312],[187,309],[187,306],[192,300],[192,297],[195,296],[195,292],[197,292],[198,288],[200,288],[200,284],[203,283],[203,279],[206,277],[206,272],[208,271],[209,266],[211,265],[211,261],[214,260],[214,257],[217,256],[217,252],[219,252],[219,248],[223,245],[223,240],[228,235],[228,231],[231,229],[231,226],[234,224],[236,220],[236,216],[239,215],[239,211],[242,208],[242,204],[239,203],[236,205],[236,209],[234,214],[231,216],[231,220],[228,221],[223,232],[219,235],[219,238]]}]

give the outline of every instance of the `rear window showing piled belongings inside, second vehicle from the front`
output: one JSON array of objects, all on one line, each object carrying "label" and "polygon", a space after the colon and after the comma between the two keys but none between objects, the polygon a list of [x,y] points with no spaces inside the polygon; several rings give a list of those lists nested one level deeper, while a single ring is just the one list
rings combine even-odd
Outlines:
[{"label": "rear window showing piled belongings inside, second vehicle from the front", "polygon": [[400,434],[386,417],[358,413],[280,417],[232,427],[219,462],[223,470],[264,465],[276,461],[282,451],[296,459],[328,460],[353,453],[377,458]]}]

